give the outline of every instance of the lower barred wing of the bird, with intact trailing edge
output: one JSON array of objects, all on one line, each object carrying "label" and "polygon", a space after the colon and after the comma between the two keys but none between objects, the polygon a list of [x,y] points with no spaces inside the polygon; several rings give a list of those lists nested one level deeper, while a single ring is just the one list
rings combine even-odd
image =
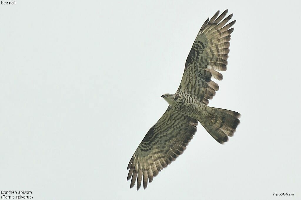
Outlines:
[{"label": "lower barred wing of the bird, with intact trailing edge", "polygon": [[197,120],[167,108],[160,120],[147,132],[132,156],[127,180],[132,177],[131,188],[137,179],[137,190],[147,186],[159,171],[167,167],[186,149],[197,131]]}]

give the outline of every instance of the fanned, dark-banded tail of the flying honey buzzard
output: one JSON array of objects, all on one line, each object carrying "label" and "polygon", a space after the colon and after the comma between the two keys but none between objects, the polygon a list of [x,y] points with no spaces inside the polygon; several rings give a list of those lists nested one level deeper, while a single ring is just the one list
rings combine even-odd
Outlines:
[{"label": "fanned, dark-banded tail of the flying honey buzzard", "polygon": [[207,106],[205,114],[199,120],[208,133],[220,144],[228,141],[240,123],[240,114],[222,108]]}]

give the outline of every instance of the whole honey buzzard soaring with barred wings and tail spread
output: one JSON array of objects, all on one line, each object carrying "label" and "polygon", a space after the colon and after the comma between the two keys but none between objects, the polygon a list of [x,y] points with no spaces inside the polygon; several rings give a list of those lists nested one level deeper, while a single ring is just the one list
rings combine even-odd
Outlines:
[{"label": "whole honey buzzard soaring with barred wings and tail spread", "polygon": [[[137,190],[143,180],[151,182],[159,171],[167,167],[186,149],[200,122],[220,144],[233,136],[240,114],[208,106],[219,86],[211,80],[222,80],[230,46],[231,28],[228,23],[233,14],[224,18],[228,10],[219,11],[205,21],[188,54],[184,74],[175,94],[161,97],[169,106],[160,120],[147,132],[132,156],[127,180],[132,177],[131,188],[137,180]],[[228,23],[228,24],[227,24]]]}]

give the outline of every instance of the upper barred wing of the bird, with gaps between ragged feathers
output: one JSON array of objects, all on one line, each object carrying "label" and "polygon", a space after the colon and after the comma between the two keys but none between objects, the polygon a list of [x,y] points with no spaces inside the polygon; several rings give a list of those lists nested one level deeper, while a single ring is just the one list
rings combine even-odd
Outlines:
[{"label": "upper barred wing of the bird, with gaps between ragged feathers", "polygon": [[235,20],[228,23],[233,14],[223,19],[227,12],[228,10],[224,11],[218,17],[218,11],[201,27],[187,57],[179,86],[179,90],[189,93],[206,105],[219,89],[211,79],[222,80],[223,76],[218,71],[227,69],[230,34],[234,30],[229,28],[235,23]]}]

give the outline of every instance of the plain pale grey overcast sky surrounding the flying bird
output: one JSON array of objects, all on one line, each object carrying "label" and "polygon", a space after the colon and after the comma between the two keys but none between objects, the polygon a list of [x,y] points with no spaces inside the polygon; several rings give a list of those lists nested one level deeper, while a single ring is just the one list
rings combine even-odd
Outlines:
[{"label": "plain pale grey overcast sky surrounding the flying bird", "polygon": [[[300,3],[21,1],[0,5],[0,190],[33,199],[300,199]],[[174,93],[201,25],[233,13],[209,106],[239,112],[224,145],[199,124],[183,155],[130,189],[128,162]]]}]

